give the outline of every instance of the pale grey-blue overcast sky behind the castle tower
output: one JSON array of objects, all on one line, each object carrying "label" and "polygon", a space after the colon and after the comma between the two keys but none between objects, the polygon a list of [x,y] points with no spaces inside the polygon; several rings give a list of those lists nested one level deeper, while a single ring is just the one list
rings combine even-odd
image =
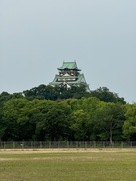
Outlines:
[{"label": "pale grey-blue overcast sky behind the castle tower", "polygon": [[136,0],[0,0],[0,93],[47,85],[74,60],[91,90],[136,102]]}]

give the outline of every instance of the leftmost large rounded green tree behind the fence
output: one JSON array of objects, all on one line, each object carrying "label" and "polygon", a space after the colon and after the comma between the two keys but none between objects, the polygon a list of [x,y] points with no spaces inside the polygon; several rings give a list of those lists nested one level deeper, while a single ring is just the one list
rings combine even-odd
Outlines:
[{"label": "leftmost large rounded green tree behind the fence", "polygon": [[11,99],[4,104],[1,128],[3,140],[31,140],[34,127],[28,117],[29,102],[26,99]]}]

